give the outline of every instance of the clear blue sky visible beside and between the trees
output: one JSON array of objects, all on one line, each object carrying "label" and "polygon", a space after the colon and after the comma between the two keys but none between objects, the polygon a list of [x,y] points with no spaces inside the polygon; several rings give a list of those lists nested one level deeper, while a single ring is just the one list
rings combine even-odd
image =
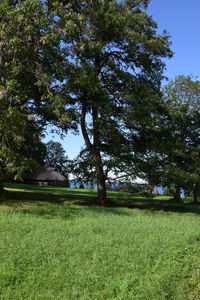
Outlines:
[{"label": "clear blue sky visible beside and between the trees", "polygon": [[[174,57],[165,61],[165,75],[170,79],[179,74],[199,76],[200,0],[152,0],[148,14],[158,23],[159,33],[166,29],[171,36]],[[63,140],[49,133],[44,142],[50,139],[61,142],[70,159],[78,154],[83,145],[81,136],[70,133]]]}]

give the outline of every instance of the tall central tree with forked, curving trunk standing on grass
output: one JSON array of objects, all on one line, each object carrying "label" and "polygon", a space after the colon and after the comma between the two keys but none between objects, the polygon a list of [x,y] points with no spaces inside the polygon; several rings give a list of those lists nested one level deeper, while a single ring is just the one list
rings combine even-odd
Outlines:
[{"label": "tall central tree with forked, curving trunk standing on grass", "polygon": [[[157,24],[145,11],[148,2],[51,1],[65,74],[57,85],[60,97],[52,105],[63,107],[61,117],[71,111],[71,124],[80,125],[101,204],[106,204],[106,165],[113,162],[121,172],[134,154],[128,147],[124,116],[130,106],[135,107],[143,126],[159,93],[162,58],[172,55],[168,36],[157,34]],[[143,90],[143,98],[138,90]]]}]

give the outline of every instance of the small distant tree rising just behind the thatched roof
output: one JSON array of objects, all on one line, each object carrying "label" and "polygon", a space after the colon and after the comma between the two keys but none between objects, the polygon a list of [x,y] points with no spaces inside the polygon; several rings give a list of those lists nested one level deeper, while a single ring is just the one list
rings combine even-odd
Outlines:
[{"label": "small distant tree rising just behind the thatched roof", "polygon": [[69,184],[69,160],[65,154],[65,150],[62,145],[58,142],[49,141],[45,144],[46,146],[46,155],[44,162],[51,167],[54,167],[59,171],[63,176],[65,176]]}]

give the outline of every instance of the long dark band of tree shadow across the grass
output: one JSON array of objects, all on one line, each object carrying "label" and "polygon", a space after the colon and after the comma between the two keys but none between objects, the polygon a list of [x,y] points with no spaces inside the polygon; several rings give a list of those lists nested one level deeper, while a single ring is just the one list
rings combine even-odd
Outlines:
[{"label": "long dark band of tree shadow across the grass", "polygon": [[[97,206],[91,197],[78,195],[54,195],[45,193],[30,193],[20,191],[7,191],[6,198],[1,200],[1,204],[24,214],[34,214],[46,217],[71,218],[75,215],[84,215],[84,211],[93,211],[104,214],[128,215],[128,212],[118,208],[141,209],[149,212],[164,211],[177,213],[200,214],[200,203],[181,204],[174,201],[148,201],[148,200],[113,200],[110,199],[108,207]],[[75,205],[76,208],[72,208]],[[84,210],[82,209],[84,207]]]}]

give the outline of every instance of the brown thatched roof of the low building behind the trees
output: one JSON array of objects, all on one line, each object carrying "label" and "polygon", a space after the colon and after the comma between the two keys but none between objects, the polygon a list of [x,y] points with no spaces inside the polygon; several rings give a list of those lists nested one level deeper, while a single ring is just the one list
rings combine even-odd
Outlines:
[{"label": "brown thatched roof of the low building behind the trees", "polygon": [[37,181],[65,181],[66,178],[57,172],[55,168],[45,165],[39,170],[27,172],[24,179]]}]

